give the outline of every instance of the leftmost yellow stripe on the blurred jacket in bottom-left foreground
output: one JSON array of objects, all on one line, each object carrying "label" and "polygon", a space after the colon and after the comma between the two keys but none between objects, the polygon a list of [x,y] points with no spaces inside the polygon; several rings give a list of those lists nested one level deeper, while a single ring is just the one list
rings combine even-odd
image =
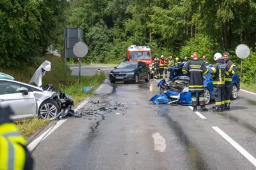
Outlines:
[{"label": "leftmost yellow stripe on the blurred jacket in bottom-left foreground", "polygon": [[8,142],[0,136],[0,169],[8,169]]}]

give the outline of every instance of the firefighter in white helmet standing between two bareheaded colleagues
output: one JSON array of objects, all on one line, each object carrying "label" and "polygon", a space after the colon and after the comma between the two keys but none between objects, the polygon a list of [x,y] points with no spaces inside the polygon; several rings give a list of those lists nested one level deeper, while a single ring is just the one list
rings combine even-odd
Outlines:
[{"label": "firefighter in white helmet standing between two bareheaded colleagues", "polygon": [[214,86],[214,99],[215,106],[213,106],[213,111],[224,111],[224,92],[225,92],[225,73],[227,71],[227,65],[221,53],[214,54],[214,60],[216,64],[211,67],[210,73],[212,77],[212,84]]}]

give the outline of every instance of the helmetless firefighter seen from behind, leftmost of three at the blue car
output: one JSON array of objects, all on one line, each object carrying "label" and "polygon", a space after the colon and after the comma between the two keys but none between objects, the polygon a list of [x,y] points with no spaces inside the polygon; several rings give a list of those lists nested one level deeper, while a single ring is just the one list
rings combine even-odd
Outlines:
[{"label": "helmetless firefighter seen from behind, leftmost of three at the blue car", "polygon": [[193,53],[193,60],[184,64],[182,68],[184,74],[189,74],[189,92],[191,92],[191,99],[193,104],[193,111],[197,111],[197,99],[196,93],[199,96],[199,104],[201,106],[201,111],[208,111],[205,108],[204,100],[204,79],[203,74],[208,73],[208,69],[205,66],[204,62],[198,60],[198,53]]}]

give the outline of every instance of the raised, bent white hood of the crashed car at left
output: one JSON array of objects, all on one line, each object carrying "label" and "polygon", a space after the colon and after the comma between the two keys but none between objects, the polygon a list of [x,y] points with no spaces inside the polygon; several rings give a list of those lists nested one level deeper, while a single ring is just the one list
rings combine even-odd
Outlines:
[{"label": "raised, bent white hood of the crashed car at left", "polygon": [[29,85],[35,83],[38,87],[42,87],[42,78],[45,75],[46,71],[51,71],[51,62],[45,60],[41,66],[38,67],[35,74],[29,81]]}]

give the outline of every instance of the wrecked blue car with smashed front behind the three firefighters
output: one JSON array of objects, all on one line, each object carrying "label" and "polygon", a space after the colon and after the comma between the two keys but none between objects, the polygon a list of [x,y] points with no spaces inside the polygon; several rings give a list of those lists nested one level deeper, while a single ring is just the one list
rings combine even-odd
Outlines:
[{"label": "wrecked blue car with smashed front behind the three firefighters", "polygon": [[[172,104],[172,105],[192,105],[191,92],[189,92],[189,76],[182,73],[182,67],[184,64],[179,64],[178,66],[173,66],[168,69],[170,71],[170,79],[166,81],[165,79],[159,81],[157,87],[160,89],[160,94],[150,99],[150,102],[154,104]],[[208,65],[207,69],[211,69],[212,65]],[[204,76],[204,97],[205,104],[209,104],[212,99],[214,99],[214,91],[212,78],[210,71]],[[239,77],[234,74],[231,83],[231,94],[232,100],[237,98],[240,84]]]}]

